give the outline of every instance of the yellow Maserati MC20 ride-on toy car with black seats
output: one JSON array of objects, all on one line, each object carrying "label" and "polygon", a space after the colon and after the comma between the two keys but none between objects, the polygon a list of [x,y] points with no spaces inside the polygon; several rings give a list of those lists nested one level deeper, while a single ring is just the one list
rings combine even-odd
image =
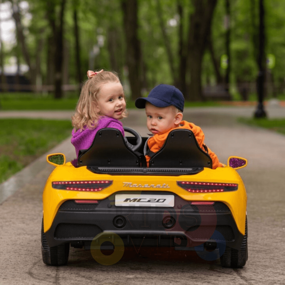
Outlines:
[{"label": "yellow Maserati MC20 ride-on toy car with black seats", "polygon": [[[247,161],[232,156],[213,170],[193,133],[177,129],[146,167],[146,138],[125,130],[135,137],[99,130],[92,146],[80,151],[78,167],[63,154],[47,157],[56,168],[43,192],[43,262],[67,264],[71,246],[113,264],[125,247],[146,246],[193,250],[205,260],[220,258],[225,267],[244,266],[247,194],[235,169]],[[105,256],[102,248],[114,252]]]}]

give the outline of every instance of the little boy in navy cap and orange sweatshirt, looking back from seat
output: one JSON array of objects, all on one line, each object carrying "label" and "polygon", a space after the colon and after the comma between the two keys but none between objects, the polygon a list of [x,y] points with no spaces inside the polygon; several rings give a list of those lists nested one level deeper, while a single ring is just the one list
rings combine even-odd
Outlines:
[{"label": "little boy in navy cap and orange sweatshirt, looking back from seat", "polygon": [[[212,158],[212,168],[223,167],[219,159],[204,144],[204,133],[200,127],[182,121],[184,109],[183,94],[174,86],[160,84],[154,87],[147,98],[138,98],[135,105],[139,109],[145,108],[147,117],[147,128],[153,134],[147,141],[150,152],[155,153],[162,148],[168,134],[173,129],[191,130],[199,146]],[[147,166],[150,156],[146,155]]]}]

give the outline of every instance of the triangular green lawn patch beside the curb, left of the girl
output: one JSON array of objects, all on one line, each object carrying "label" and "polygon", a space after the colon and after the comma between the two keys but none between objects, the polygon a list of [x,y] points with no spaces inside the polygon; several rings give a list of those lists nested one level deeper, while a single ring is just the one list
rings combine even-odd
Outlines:
[{"label": "triangular green lawn patch beside the curb, left of the girl", "polygon": [[66,139],[70,121],[0,119],[0,183]]}]

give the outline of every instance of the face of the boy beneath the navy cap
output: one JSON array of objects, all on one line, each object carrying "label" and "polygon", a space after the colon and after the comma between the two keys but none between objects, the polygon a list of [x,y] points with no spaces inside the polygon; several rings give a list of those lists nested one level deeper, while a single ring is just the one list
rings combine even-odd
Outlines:
[{"label": "face of the boy beneath the navy cap", "polygon": [[182,119],[182,113],[176,114],[173,106],[159,108],[146,102],[145,112],[147,128],[154,135],[163,134],[177,127]]}]

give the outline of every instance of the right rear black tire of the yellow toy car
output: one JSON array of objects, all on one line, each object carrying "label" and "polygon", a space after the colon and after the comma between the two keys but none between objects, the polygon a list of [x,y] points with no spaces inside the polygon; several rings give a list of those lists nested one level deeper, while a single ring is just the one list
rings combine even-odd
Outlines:
[{"label": "right rear black tire of the yellow toy car", "polygon": [[224,254],[220,257],[221,265],[230,268],[239,268],[245,266],[248,257],[247,249],[247,217],[245,218],[245,235],[240,249],[226,247]]}]

